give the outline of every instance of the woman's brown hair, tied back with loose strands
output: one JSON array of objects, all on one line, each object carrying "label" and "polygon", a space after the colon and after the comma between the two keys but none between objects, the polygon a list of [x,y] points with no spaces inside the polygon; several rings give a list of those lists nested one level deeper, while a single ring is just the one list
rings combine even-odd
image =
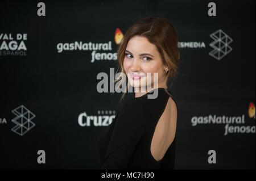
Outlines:
[{"label": "woman's brown hair, tied back with loose strands", "polygon": [[[163,64],[166,64],[169,70],[167,72],[167,82],[170,79],[174,79],[177,74],[180,51],[177,47],[177,33],[172,24],[164,18],[146,17],[139,19],[127,30],[123,36],[123,39],[118,44],[117,50],[117,60],[119,64],[118,69],[121,67],[121,72],[124,74],[125,70],[123,69],[123,60],[125,58],[125,50],[129,40],[134,36],[146,37],[150,43],[156,46],[163,60]],[[120,79],[121,75],[118,77],[118,79],[115,79],[114,82],[117,82]],[[122,85],[122,83],[123,80],[121,81],[120,85]],[[128,86],[129,81],[126,85],[126,92]],[[123,92],[121,99],[123,99],[126,92]]]}]

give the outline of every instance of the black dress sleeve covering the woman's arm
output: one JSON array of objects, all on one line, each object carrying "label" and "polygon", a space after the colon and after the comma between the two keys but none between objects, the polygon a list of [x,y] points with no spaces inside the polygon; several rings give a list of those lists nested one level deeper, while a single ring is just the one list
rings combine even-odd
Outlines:
[{"label": "black dress sleeve covering the woman's arm", "polygon": [[131,156],[144,135],[143,109],[134,101],[119,110],[101,169],[127,169]]}]

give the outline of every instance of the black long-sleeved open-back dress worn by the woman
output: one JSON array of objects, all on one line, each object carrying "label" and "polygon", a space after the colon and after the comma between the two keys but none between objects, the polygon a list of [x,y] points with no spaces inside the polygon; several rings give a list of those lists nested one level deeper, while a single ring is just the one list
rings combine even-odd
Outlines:
[{"label": "black long-sleeved open-back dress worn by the woman", "polygon": [[123,102],[112,123],[101,132],[99,169],[174,169],[176,136],[160,161],[150,151],[156,124],[170,97],[167,89],[157,88],[157,98],[148,99],[154,90]]}]

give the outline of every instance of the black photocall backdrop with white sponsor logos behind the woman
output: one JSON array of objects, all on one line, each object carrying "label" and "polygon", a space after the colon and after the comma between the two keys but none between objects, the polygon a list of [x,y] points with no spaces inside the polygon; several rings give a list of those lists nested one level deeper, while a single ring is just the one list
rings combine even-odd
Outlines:
[{"label": "black photocall backdrop with white sponsor logos behind the woman", "polygon": [[43,1],[45,16],[39,2],[0,3],[0,169],[97,169],[121,98],[97,75],[145,16],[179,38],[175,169],[255,169],[255,1],[212,1],[216,16],[210,1]]}]

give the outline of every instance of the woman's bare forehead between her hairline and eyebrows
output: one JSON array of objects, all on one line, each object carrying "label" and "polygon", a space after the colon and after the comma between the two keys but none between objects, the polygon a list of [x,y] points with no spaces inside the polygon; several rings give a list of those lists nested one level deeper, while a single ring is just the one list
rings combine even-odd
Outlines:
[{"label": "woman's bare forehead between her hairline and eyebrows", "polygon": [[156,46],[150,43],[146,37],[134,36],[132,37],[126,47],[132,53],[158,53]]}]

